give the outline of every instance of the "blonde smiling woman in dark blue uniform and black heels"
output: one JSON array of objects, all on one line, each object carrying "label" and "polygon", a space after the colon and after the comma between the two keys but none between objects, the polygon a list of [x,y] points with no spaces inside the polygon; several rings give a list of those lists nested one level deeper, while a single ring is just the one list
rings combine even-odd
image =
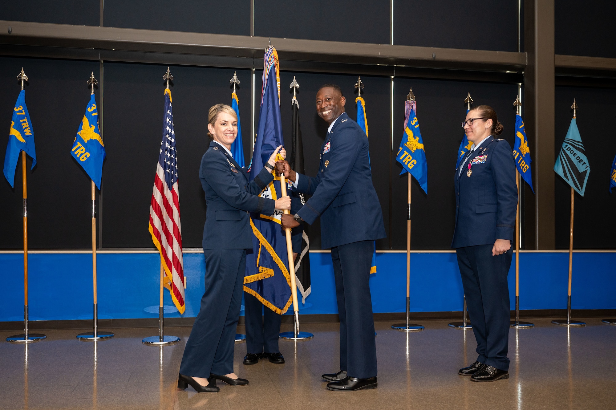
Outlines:
[{"label": "blonde smiling woman in dark blue uniform and black heels", "polygon": [[231,155],[237,137],[237,115],[233,108],[216,104],[209,109],[209,148],[201,158],[199,177],[208,205],[203,227],[205,294],[193,324],[180,364],[177,387],[190,384],[199,393],[219,391],[216,379],[230,385],[246,385],[233,372],[235,331],[240,317],[246,249],[252,249],[252,230],[247,212],[272,214],[290,209],[291,198],[257,196],[272,182],[274,150],[257,177],[248,174]]}]

